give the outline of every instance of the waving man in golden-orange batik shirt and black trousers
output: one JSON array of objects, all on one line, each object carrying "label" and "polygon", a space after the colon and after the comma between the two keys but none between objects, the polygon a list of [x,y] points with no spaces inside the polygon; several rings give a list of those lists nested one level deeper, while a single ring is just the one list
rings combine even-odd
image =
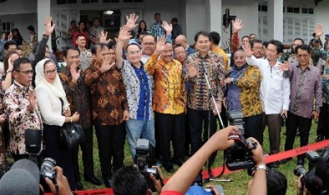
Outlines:
[{"label": "waving man in golden-orange batik shirt and black trousers", "polygon": [[[158,39],[156,51],[146,62],[145,70],[156,78],[153,109],[159,134],[157,143],[161,149],[163,167],[167,172],[173,172],[173,163],[181,166],[185,157],[186,91],[183,65],[173,59],[173,45],[166,42],[165,36]],[[171,141],[174,150],[172,160]]]}]

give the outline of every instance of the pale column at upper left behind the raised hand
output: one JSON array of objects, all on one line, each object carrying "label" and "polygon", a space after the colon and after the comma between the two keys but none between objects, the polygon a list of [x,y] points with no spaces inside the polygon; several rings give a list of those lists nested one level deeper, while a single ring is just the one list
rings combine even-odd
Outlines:
[{"label": "pale column at upper left behind the raised hand", "polygon": [[[37,40],[42,39],[45,31],[45,18],[50,16],[50,0],[37,0]],[[47,45],[52,48],[51,39]]]}]

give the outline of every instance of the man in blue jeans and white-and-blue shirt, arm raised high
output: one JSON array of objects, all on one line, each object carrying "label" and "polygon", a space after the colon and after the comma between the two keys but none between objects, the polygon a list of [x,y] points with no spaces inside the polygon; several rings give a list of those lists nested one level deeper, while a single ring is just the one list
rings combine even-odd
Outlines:
[{"label": "man in blue jeans and white-and-blue shirt, arm raised high", "polygon": [[139,45],[131,43],[126,47],[127,60],[122,59],[122,47],[129,40],[127,26],[120,30],[115,55],[117,69],[121,70],[122,80],[127,90],[129,121],[126,122],[127,141],[135,160],[137,139],[145,138],[151,146],[156,146],[154,135],[154,112],[152,110],[153,76],[144,69]]}]

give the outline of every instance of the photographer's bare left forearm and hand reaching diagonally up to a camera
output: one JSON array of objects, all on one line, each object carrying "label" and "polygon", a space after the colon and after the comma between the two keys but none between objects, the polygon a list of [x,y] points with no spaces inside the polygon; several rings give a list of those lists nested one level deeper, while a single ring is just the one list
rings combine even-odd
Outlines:
[{"label": "photographer's bare left forearm and hand reaching diagonally up to a camera", "polygon": [[233,145],[234,141],[229,140],[229,134],[238,131],[235,126],[228,126],[221,131],[217,131],[209,140],[204,143],[202,148],[192,155],[180,169],[175,172],[173,177],[169,179],[162,191],[179,191],[185,193],[192,184],[197,174],[202,170],[202,167],[208,158],[216,150],[225,150]]}]

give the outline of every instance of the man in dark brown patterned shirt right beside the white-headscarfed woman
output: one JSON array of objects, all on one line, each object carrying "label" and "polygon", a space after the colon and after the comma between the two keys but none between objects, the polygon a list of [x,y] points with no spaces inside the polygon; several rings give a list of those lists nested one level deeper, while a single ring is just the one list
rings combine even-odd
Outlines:
[{"label": "man in dark brown patterned shirt right beside the white-headscarfed woman", "polygon": [[[78,40],[83,35],[78,37]],[[72,113],[80,114],[79,124],[83,126],[86,141],[81,143],[82,161],[84,178],[87,182],[100,185],[100,182],[94,174],[93,170],[93,124],[91,122],[91,95],[88,85],[85,83],[85,71],[79,68],[81,62],[81,54],[78,47],[69,45],[64,50],[64,59],[67,62],[65,70],[59,73],[67,100],[70,104]],[[79,172],[79,146],[72,150],[72,160],[74,165],[74,176],[76,178],[76,189],[83,190],[81,177]]]}]

